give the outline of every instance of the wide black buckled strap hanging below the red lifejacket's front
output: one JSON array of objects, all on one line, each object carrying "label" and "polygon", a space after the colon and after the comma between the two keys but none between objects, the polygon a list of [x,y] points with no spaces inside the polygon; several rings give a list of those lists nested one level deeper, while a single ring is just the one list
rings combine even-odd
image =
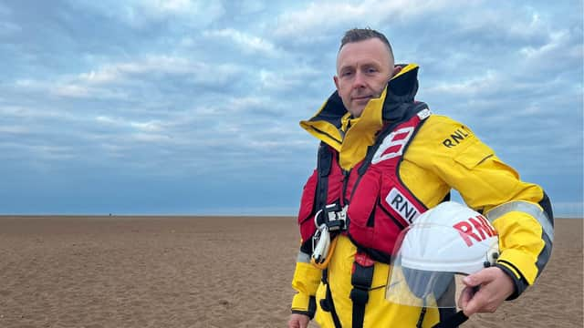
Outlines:
[{"label": "wide black buckled strap hanging below the red lifejacket's front", "polygon": [[353,262],[353,274],[350,282],[353,289],[350,299],[353,301],[353,328],[362,328],[365,320],[365,305],[369,302],[369,291],[373,282],[373,262],[361,264]]}]

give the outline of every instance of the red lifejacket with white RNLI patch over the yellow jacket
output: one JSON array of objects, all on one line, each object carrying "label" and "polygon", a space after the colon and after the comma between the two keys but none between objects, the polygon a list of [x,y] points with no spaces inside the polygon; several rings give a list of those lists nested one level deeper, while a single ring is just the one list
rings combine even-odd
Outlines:
[{"label": "red lifejacket with white RNLI patch over the yellow jacket", "polygon": [[382,128],[365,159],[349,171],[340,168],[339,152],[321,143],[318,166],[304,187],[298,212],[302,251],[312,253],[315,213],[327,204],[348,204],[347,230],[341,233],[373,260],[391,261],[400,231],[427,210],[399,173],[403,154],[430,116],[425,104],[418,105],[409,117]]}]

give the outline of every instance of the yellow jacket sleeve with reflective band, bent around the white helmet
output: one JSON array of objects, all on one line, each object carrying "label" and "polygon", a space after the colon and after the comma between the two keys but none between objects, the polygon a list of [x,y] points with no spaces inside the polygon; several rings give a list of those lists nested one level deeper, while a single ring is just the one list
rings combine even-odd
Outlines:
[{"label": "yellow jacket sleeve with reflective band, bent around the white helmet", "polygon": [[[443,147],[437,156],[443,159],[434,164],[435,172],[493,223],[501,252],[495,265],[515,282],[516,290],[509,297],[514,299],[536,281],[551,255],[554,228],[549,199],[541,187],[519,179],[515,169],[469,128],[454,121],[445,127],[454,132],[436,140]],[[457,131],[464,138],[453,138]]]}]

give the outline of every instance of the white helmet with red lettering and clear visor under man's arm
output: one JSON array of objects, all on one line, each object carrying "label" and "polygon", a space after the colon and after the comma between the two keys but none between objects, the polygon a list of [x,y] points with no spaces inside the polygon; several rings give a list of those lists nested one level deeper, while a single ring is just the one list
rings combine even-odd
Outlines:
[{"label": "white helmet with red lettering and clear visor under man's arm", "polygon": [[498,257],[495,228],[454,201],[425,211],[396,243],[386,299],[425,307],[455,307],[454,275],[472,274]]}]

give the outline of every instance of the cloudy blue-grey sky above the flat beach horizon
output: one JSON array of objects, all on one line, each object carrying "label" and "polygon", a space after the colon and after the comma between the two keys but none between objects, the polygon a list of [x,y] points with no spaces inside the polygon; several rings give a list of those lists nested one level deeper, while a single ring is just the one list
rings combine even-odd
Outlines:
[{"label": "cloudy blue-grey sky above the flat beach horizon", "polygon": [[583,210],[581,1],[0,1],[0,214],[296,215],[352,27]]}]

